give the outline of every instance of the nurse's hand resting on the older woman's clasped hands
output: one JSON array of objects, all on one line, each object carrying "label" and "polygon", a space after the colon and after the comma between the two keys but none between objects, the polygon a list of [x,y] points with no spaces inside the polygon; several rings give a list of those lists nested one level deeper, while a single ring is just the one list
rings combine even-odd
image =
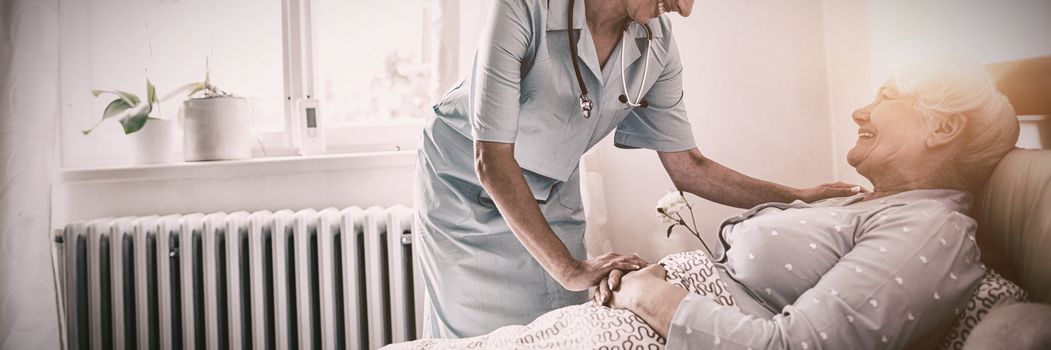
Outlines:
[{"label": "nurse's hand resting on the older woman's clasped hands", "polygon": [[638,255],[607,253],[583,261],[573,260],[554,277],[562,288],[581,291],[597,285],[610,274],[610,271],[635,271],[646,266],[650,266],[650,263]]}]

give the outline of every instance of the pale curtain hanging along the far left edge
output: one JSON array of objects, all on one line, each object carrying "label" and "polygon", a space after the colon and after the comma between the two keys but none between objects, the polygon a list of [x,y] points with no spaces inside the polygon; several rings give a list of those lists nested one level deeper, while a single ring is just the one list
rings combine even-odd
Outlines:
[{"label": "pale curtain hanging along the far left edge", "polygon": [[0,1],[0,349],[58,349],[50,183],[58,0]]}]

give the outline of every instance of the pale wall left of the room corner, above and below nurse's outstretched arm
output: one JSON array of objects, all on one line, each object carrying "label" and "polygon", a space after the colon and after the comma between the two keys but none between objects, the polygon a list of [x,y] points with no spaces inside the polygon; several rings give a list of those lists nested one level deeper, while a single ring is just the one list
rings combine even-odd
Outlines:
[{"label": "pale wall left of the room corner, above and below nurse's outstretched arm", "polygon": [[[675,20],[701,152],[786,185],[832,180],[822,11],[818,0],[708,0]],[[655,152],[615,149],[610,140],[599,147],[589,167],[602,173],[609,222],[593,225],[593,250],[655,260],[700,247],[684,231],[664,239],[654,207],[674,187]],[[709,243],[718,224],[738,212],[697,198],[692,203]]]}]

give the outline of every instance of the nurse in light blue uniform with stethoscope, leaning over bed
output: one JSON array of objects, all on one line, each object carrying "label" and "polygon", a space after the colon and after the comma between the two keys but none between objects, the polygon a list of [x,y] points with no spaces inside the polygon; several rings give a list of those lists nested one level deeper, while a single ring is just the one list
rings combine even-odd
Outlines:
[{"label": "nurse in light blue uniform with stethoscope, leaning over bed", "polygon": [[418,150],[426,336],[528,324],[585,302],[611,270],[646,265],[584,251],[578,163],[611,132],[618,147],[656,150],[677,188],[718,203],[854,193],[845,184],[785,187],[701,156],[661,16],[688,16],[693,2],[497,1],[472,70],[434,106]]}]

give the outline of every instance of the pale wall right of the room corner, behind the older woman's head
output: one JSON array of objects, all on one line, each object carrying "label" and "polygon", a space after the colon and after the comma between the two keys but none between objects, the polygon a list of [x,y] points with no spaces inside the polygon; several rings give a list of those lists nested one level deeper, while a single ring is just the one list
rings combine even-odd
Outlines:
[{"label": "pale wall right of the room corner, behind the older woman's head", "polygon": [[857,140],[850,112],[867,104],[895,62],[951,55],[988,64],[1051,55],[1047,0],[825,0],[834,172],[864,181],[842,161]]}]

